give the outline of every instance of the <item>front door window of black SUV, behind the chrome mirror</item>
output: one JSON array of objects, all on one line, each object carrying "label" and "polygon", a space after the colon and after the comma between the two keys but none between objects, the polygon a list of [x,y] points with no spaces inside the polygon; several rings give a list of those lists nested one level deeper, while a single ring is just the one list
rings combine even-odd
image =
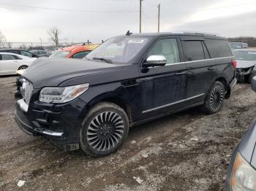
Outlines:
[{"label": "front door window of black SUV, behind the chrome mirror", "polygon": [[148,52],[148,56],[150,55],[164,55],[167,60],[166,65],[180,61],[176,39],[159,40]]}]

